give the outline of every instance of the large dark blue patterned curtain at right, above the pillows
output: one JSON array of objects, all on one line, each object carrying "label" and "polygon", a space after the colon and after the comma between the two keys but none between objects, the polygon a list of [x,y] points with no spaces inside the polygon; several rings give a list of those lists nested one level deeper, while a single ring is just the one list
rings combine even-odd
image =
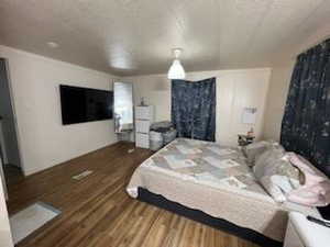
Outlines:
[{"label": "large dark blue patterned curtain at right, above the pillows", "polygon": [[330,40],[297,58],[280,143],[330,176]]}]

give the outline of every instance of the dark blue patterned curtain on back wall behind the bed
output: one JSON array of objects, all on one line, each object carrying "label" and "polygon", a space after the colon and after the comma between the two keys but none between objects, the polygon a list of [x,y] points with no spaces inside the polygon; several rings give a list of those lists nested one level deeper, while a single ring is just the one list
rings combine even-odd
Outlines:
[{"label": "dark blue patterned curtain on back wall behind the bed", "polygon": [[172,80],[172,122],[179,137],[216,139],[216,78]]}]

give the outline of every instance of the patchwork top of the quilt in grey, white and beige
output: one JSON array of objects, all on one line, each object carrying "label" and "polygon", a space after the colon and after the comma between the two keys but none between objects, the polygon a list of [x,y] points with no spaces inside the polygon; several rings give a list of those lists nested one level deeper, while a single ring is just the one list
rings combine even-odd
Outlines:
[{"label": "patchwork top of the quilt in grey, white and beige", "polygon": [[239,148],[177,138],[152,156],[142,167],[158,170],[210,187],[256,192],[268,195],[254,178],[246,158]]}]

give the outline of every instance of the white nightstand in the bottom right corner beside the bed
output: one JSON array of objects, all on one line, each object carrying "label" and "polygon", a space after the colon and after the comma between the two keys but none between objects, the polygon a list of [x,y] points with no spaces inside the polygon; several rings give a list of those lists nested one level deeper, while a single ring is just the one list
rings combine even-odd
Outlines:
[{"label": "white nightstand in the bottom right corner beside the bed", "polygon": [[310,222],[306,215],[292,212],[285,234],[284,247],[329,247],[330,228]]}]

